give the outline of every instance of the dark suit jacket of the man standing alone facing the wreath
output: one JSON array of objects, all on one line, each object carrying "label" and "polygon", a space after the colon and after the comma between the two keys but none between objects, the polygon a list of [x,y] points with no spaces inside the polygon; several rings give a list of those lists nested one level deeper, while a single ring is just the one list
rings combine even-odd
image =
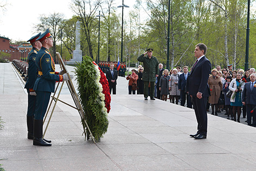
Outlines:
[{"label": "dark suit jacket of the man standing alone facing the wreath", "polygon": [[209,74],[211,74],[211,63],[204,56],[194,66],[187,79],[187,88],[190,95],[196,96],[198,92],[203,93],[203,97],[210,95],[208,85]]}]

